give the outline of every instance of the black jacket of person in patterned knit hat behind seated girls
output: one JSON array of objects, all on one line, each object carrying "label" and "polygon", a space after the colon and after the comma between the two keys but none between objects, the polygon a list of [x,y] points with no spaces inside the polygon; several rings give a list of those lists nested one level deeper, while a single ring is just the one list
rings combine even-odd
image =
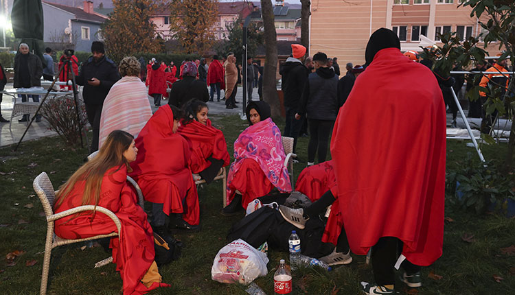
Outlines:
[{"label": "black jacket of person in patterned knit hat behind seated girls", "polygon": [[209,100],[207,84],[201,80],[196,80],[195,77],[185,75],[183,76],[183,80],[172,84],[168,104],[181,108],[186,102],[189,102],[194,98],[201,100],[202,102],[207,102]]}]

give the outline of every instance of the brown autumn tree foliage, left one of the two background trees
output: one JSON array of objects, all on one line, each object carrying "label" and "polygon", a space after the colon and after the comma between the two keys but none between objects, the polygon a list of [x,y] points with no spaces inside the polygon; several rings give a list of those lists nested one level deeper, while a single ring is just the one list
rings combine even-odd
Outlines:
[{"label": "brown autumn tree foliage, left one of the two background trees", "polygon": [[162,45],[155,38],[150,16],[159,0],[113,0],[114,11],[102,24],[102,37],[109,58],[119,62],[137,52],[158,53]]}]

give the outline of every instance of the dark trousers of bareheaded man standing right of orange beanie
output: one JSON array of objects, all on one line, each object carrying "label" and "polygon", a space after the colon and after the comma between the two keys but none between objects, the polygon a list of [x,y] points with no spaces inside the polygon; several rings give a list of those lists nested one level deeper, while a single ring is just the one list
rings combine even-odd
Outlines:
[{"label": "dark trousers of bareheaded man standing right of orange beanie", "polygon": [[310,142],[308,144],[308,162],[314,163],[314,154],[319,151],[319,163],[325,162],[328,154],[329,135],[334,121],[309,119]]}]

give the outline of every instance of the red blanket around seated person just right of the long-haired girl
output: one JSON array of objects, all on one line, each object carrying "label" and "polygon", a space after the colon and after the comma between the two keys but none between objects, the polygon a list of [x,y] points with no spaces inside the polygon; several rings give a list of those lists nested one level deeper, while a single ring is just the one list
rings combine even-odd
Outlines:
[{"label": "red blanket around seated person just right of the long-haired girl", "polygon": [[[183,213],[189,224],[198,224],[198,194],[188,166],[191,147],[172,132],[174,116],[168,104],[150,117],[135,139],[138,155],[130,176],[137,180],[145,200],[163,204],[163,212]],[[183,200],[186,207],[183,207]]]}]

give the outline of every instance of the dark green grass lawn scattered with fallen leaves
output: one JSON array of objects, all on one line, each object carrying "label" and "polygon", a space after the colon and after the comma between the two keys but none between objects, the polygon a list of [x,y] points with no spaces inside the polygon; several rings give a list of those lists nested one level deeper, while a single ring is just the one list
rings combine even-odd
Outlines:
[{"label": "dark green grass lawn scattered with fallen leaves", "polygon": [[[248,126],[236,116],[213,117],[222,128],[232,156],[233,142]],[[279,127],[284,124],[279,123]],[[295,177],[307,161],[308,139],[299,139],[297,153],[304,163],[295,165]],[[485,146],[486,158],[500,158],[504,147]],[[459,167],[466,153],[474,152],[464,141],[448,141],[448,167]],[[57,189],[83,163],[86,149],[71,150],[60,138],[43,138],[22,143],[17,152],[0,149],[0,294],[38,294],[41,283],[46,222],[43,208],[32,189],[32,180],[41,172],[49,174]],[[242,216],[224,217],[220,181],[200,187],[201,226],[199,233],[177,233],[185,244],[183,255],[160,269],[172,287],[151,294],[246,294],[239,285],[211,281],[213,259],[226,241],[227,232]],[[433,266],[423,268],[423,287],[401,290],[407,294],[514,294],[515,253],[501,250],[515,244],[515,219],[500,215],[476,215],[446,207],[444,255]],[[464,235],[473,235],[471,242]],[[61,246],[52,251],[48,294],[119,294],[122,280],[113,264],[93,269],[108,254],[101,247],[84,244]],[[25,253],[8,266],[5,255],[14,250]],[[270,250],[268,275],[255,282],[266,294],[273,294],[273,272],[279,259],[288,253]],[[36,261],[34,266],[27,266]],[[496,281],[497,278],[497,282]],[[499,279],[501,278],[501,279]],[[371,267],[365,257],[354,255],[349,266],[332,272],[304,269],[293,274],[293,294],[358,294],[360,281],[371,281]]]}]

